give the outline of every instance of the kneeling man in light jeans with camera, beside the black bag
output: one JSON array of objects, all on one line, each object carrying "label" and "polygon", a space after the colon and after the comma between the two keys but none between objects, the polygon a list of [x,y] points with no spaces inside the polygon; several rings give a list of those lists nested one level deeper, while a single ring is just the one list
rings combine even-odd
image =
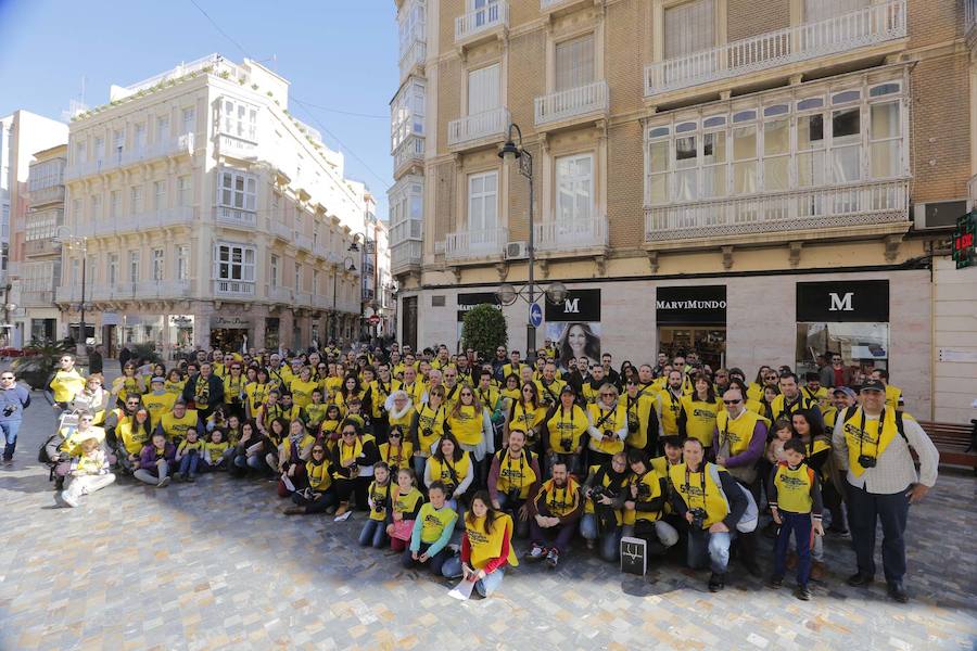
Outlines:
[{"label": "kneeling man in light jeans with camera, beside the black bag", "polygon": [[736,523],[749,502],[733,475],[705,461],[698,438],[686,439],[682,452],[684,461],[669,468],[672,508],[688,522],[689,567],[701,569],[708,558],[709,591],[719,592],[725,587]]}]

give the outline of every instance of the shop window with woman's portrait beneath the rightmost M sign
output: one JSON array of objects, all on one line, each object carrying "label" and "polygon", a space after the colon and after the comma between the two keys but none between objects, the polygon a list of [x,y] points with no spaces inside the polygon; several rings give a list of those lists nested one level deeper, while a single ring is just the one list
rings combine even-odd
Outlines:
[{"label": "shop window with woman's portrait beneath the rightmost M sign", "polygon": [[846,367],[866,375],[873,369],[886,369],[889,366],[889,324],[798,323],[798,372],[816,371],[815,358],[825,353],[840,353]]}]

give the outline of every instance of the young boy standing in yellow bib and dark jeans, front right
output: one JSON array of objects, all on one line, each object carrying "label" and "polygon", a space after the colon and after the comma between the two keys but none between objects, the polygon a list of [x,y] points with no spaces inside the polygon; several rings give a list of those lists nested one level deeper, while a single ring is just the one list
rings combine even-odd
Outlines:
[{"label": "young boy standing in yellow bib and dark jeans, front right", "polygon": [[767,582],[771,588],[784,583],[787,564],[787,547],[790,534],[797,541],[797,590],[794,595],[802,601],[811,599],[808,579],[811,575],[811,532],[824,535],[821,525],[821,485],[817,473],[804,463],[804,442],[791,438],[784,444],[786,461],[771,473],[767,482],[770,511],[774,522],[781,525],[774,548],[774,573]]}]

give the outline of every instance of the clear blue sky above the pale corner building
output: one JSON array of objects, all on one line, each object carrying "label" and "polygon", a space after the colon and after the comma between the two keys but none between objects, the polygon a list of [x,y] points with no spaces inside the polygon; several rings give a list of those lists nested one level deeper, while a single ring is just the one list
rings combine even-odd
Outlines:
[{"label": "clear blue sky above the pale corner building", "polygon": [[195,2],[227,36],[191,0],[0,0],[0,115],[26,108],[61,119],[83,77],[94,106],[109,101],[112,84],[213,52],[269,60],[264,65],[291,81],[291,97],[332,110],[289,107],[345,154],[346,176],[370,187],[385,219],[389,102],[398,81],[393,0]]}]

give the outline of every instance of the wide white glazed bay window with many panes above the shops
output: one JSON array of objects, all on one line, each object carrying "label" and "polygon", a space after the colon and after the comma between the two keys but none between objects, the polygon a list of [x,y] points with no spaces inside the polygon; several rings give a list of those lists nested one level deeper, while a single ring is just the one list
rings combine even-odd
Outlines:
[{"label": "wide white glazed bay window with many panes above the shops", "polygon": [[901,80],[765,93],[652,118],[648,205],[908,176]]}]

